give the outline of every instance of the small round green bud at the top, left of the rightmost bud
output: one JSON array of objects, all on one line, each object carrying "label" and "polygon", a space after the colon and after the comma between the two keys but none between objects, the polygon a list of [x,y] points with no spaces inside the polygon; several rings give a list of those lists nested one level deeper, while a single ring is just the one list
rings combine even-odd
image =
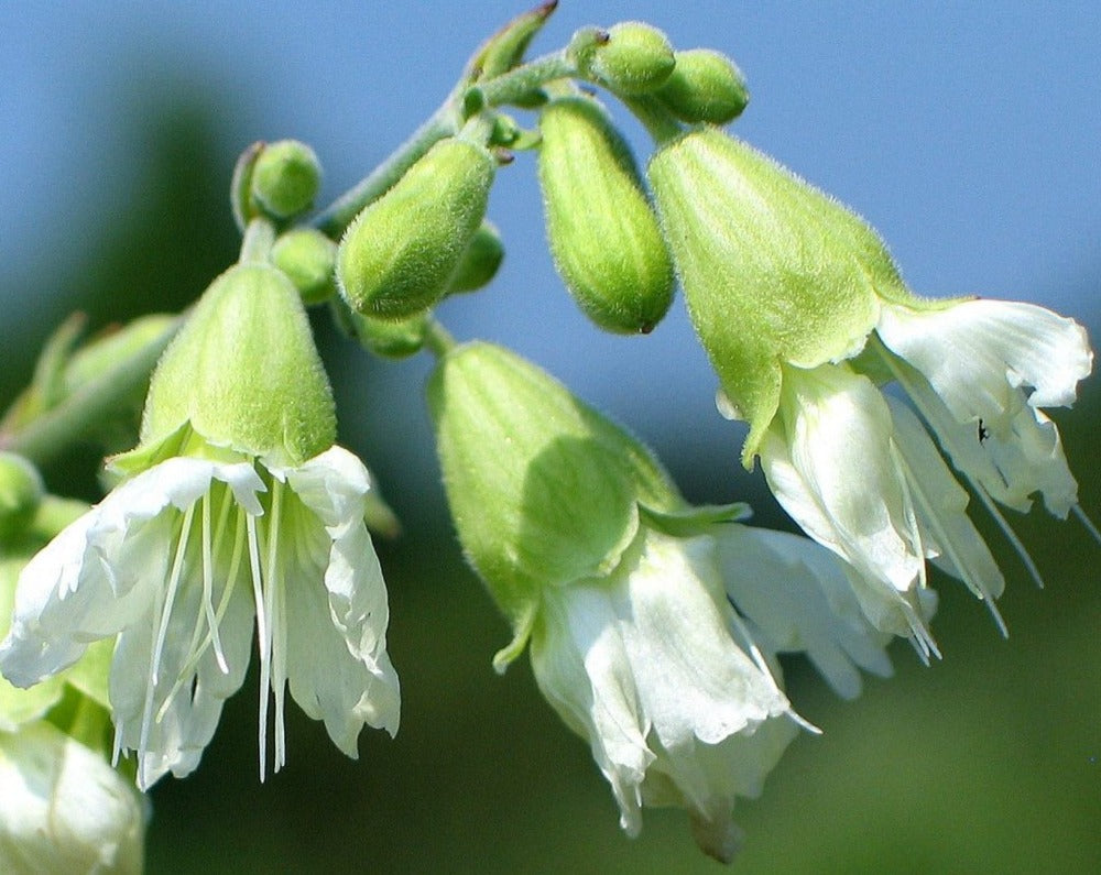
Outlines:
[{"label": "small round green bud at the top, left of the rightmost bud", "polygon": [[582,74],[622,95],[659,88],[676,66],[665,34],[641,21],[625,21],[607,31],[579,31],[567,51]]}]

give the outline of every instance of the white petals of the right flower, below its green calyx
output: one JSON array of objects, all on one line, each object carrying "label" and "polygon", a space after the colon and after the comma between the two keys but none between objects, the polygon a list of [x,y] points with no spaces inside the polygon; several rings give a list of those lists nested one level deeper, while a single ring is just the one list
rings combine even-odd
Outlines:
[{"label": "white petals of the right flower, below its green calyx", "polygon": [[[859,572],[854,592],[875,626],[936,653],[926,559],[984,600],[1003,632],[994,599],[1004,579],[927,429],[1035,575],[995,502],[1027,511],[1039,493],[1053,514],[1075,510],[1086,521],[1058,430],[1039,407],[1073,402],[1092,353],[1077,322],[992,300],[925,310],[883,303],[876,335],[854,363],[784,368],[761,462],[784,508]],[[924,424],[858,370],[870,360],[906,390]]]}]

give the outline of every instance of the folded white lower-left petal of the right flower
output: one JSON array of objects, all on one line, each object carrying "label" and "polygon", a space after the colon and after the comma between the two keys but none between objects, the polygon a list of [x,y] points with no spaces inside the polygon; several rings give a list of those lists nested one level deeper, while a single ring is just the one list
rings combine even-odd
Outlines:
[{"label": "folded white lower-left petal of the right flower", "polygon": [[784,384],[783,422],[760,447],[773,494],[859,572],[857,597],[876,628],[923,636],[925,557],[886,402],[844,365],[788,369]]}]

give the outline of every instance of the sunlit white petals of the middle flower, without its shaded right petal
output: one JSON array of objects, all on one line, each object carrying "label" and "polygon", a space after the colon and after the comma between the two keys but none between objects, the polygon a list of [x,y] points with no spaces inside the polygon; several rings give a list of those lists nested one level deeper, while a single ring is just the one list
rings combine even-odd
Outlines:
[{"label": "sunlit white petals of the middle flower, without its shaded right petal", "polygon": [[796,722],[760,652],[732,637],[713,550],[707,536],[643,528],[609,578],[544,589],[531,656],[623,829],[637,834],[643,805],[684,806],[700,846],[728,861],[734,799],[761,792]]}]

